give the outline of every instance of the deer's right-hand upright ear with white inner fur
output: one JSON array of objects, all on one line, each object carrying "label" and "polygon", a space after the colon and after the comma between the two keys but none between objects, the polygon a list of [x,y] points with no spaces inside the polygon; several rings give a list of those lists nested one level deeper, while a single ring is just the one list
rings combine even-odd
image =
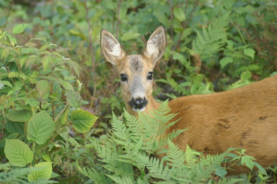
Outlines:
[{"label": "deer's right-hand upright ear with white inner fur", "polygon": [[147,41],[143,55],[152,57],[153,62],[156,63],[166,50],[166,31],[163,26],[159,26],[150,36]]}]

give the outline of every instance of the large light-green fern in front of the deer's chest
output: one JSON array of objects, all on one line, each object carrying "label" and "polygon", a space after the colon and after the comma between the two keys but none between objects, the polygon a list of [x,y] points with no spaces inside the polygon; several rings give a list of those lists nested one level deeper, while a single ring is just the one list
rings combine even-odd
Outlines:
[{"label": "large light-green fern in front of the deer's chest", "polygon": [[[164,134],[178,121],[172,121],[176,115],[170,114],[167,101],[150,115],[140,111],[138,115],[136,118],[125,111],[124,123],[122,116],[117,118],[113,114],[112,128],[106,140],[90,139],[88,147],[95,149],[98,164],[95,168],[78,166],[79,172],[90,179],[88,183],[214,183],[212,176],[218,171],[225,171],[221,163],[230,150],[219,155],[203,156],[189,146],[183,151],[173,144],[171,140],[185,130]],[[161,160],[152,156],[160,153],[165,155]],[[219,183],[237,181],[223,178]]]}]

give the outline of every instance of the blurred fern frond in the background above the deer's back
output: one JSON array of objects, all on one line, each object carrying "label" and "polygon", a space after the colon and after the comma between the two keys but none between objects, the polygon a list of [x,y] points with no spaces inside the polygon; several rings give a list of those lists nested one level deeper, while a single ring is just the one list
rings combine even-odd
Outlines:
[{"label": "blurred fern frond in the background above the deer's back", "polygon": [[196,31],[197,37],[192,42],[192,47],[195,53],[201,56],[201,59],[211,57],[214,53],[223,49],[223,46],[227,42],[229,24],[229,14],[225,14],[220,18],[211,22],[206,29],[202,27],[202,34]]}]

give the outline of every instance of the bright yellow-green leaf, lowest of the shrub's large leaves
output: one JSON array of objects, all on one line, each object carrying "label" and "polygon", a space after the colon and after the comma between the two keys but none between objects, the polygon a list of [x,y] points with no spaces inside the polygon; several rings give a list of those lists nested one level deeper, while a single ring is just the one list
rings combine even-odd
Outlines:
[{"label": "bright yellow-green leaf, lowest of the shrub's large leaves", "polygon": [[40,170],[35,170],[28,174],[28,181],[34,181],[40,178],[50,179],[52,174],[52,162],[40,162],[34,166],[35,168],[42,168]]}]

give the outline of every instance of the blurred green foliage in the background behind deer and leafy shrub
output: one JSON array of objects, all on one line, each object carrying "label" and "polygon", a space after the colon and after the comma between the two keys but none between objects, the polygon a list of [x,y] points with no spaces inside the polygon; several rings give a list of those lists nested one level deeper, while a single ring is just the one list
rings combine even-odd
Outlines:
[{"label": "blurred green foliage in the background behind deer and leafy shrub", "polygon": [[[13,35],[17,43],[43,36],[69,48],[63,56],[81,66],[82,98],[99,116],[87,139],[101,137],[111,111],[120,115],[124,107],[119,77],[101,54],[101,29],[134,54],[142,52],[156,27],[166,28],[167,48],[154,71],[153,88],[153,95],[165,100],[277,74],[276,5],[273,0],[0,0],[0,30],[11,33],[14,25],[28,23],[24,34]],[[64,173],[74,173],[70,164],[63,167]]]}]

